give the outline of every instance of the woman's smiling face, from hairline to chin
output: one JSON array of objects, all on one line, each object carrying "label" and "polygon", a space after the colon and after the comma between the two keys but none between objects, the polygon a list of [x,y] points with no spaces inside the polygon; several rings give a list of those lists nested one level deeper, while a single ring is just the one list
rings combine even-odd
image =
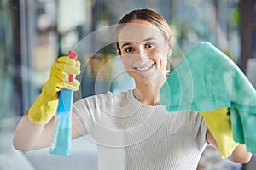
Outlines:
[{"label": "woman's smiling face, from hairline to chin", "polygon": [[[136,82],[166,80],[167,56],[172,52],[172,42],[158,28],[146,20],[132,20],[119,34],[121,58],[128,74]],[[162,81],[160,81],[162,82]]]}]

